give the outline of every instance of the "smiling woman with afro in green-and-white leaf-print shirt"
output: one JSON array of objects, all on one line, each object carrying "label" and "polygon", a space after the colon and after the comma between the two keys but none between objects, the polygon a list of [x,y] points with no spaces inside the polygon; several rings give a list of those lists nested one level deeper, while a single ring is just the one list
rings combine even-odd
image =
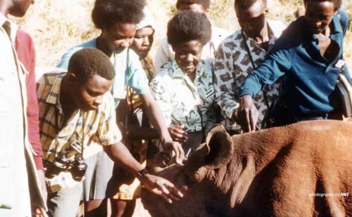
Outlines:
[{"label": "smiling woman with afro in green-and-white leaf-print shirt", "polygon": [[211,25],[205,14],[179,11],[168,23],[167,38],[175,60],[160,68],[150,89],[171,136],[182,143],[185,153],[191,153],[215,124],[212,67],[210,60],[201,59]]}]

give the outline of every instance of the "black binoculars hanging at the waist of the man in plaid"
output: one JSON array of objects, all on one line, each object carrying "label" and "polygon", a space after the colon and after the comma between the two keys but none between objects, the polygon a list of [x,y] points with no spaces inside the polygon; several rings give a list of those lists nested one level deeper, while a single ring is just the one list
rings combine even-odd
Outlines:
[{"label": "black binoculars hanging at the waist of the man in plaid", "polygon": [[45,177],[52,179],[60,172],[65,171],[71,173],[73,180],[80,182],[82,181],[87,168],[88,165],[84,163],[84,159],[81,155],[77,155],[74,159],[68,160],[67,155],[61,153],[51,164],[49,164],[45,171]]}]

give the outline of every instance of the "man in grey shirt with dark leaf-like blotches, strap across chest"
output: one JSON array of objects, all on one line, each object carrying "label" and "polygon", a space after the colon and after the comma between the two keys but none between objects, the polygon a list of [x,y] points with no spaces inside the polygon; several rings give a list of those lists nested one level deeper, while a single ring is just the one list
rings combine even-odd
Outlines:
[{"label": "man in grey shirt with dark leaf-like blotches, strap across chest", "polygon": [[[221,108],[222,124],[230,132],[239,133],[240,125],[236,124],[238,88],[248,73],[264,60],[286,26],[266,19],[269,12],[267,0],[235,0],[235,11],[241,29],[227,37],[218,48],[214,89],[215,101]],[[258,124],[277,97],[278,89],[279,82],[276,82],[254,98],[259,111]]]}]

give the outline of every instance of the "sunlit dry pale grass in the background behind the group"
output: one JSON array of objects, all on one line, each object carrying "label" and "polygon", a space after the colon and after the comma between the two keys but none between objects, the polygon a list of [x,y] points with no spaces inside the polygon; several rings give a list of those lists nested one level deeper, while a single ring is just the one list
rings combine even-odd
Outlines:
[{"label": "sunlit dry pale grass in the background behind the group", "polygon": [[[166,24],[175,13],[176,0],[149,0],[157,31],[151,54],[155,54],[159,41],[164,37]],[[212,0],[209,19],[214,26],[229,31],[239,28],[233,9],[234,0]],[[91,21],[94,0],[40,0],[31,6],[27,15],[16,19],[19,26],[31,33],[37,51],[37,66],[55,66],[69,47],[78,45],[99,34]],[[302,0],[268,0],[269,18],[286,24],[294,19],[296,8]],[[352,1],[344,1],[343,8],[352,18]],[[352,62],[352,32],[345,39],[345,56]]]}]

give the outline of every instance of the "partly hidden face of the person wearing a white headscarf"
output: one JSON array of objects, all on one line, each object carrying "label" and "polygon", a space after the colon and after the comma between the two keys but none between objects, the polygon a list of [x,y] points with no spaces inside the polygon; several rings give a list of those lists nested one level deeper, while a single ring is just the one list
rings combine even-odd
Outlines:
[{"label": "partly hidden face of the person wearing a white headscarf", "polygon": [[132,50],[136,52],[140,59],[145,58],[154,41],[154,30],[147,26],[136,31],[133,38]]}]

